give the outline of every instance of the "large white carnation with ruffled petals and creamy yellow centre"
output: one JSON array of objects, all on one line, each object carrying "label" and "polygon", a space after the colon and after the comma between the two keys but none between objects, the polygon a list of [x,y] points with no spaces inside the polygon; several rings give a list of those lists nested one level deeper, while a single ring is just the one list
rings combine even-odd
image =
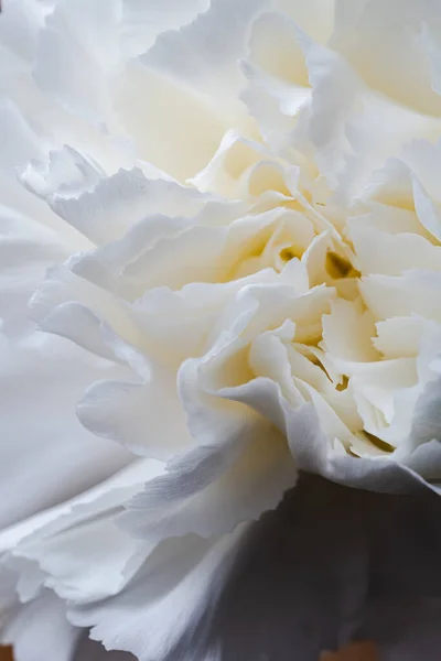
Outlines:
[{"label": "large white carnation with ruffled petals and creamy yellow centre", "polygon": [[141,661],[224,659],[201,621],[302,472],[437,492],[440,19],[421,0],[7,3],[18,661],[41,658],[35,611],[62,622],[57,661],[79,627]]}]

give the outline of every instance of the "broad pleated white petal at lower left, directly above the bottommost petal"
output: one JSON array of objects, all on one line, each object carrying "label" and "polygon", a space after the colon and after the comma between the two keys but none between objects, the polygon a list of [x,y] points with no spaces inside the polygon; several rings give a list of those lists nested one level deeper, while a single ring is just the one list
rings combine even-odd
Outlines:
[{"label": "broad pleated white petal at lower left, directly above the bottommost petal", "polygon": [[[19,572],[17,590],[22,600],[30,587],[44,585],[63,599],[88,603],[123,588],[152,550],[138,544],[116,527],[122,503],[159,475],[162,465],[139,462],[89,492],[47,512],[47,521],[30,521],[31,534],[19,539],[4,563]],[[24,525],[17,527],[18,535]],[[2,534],[11,541],[14,529]],[[35,575],[35,567],[37,574]]]}]

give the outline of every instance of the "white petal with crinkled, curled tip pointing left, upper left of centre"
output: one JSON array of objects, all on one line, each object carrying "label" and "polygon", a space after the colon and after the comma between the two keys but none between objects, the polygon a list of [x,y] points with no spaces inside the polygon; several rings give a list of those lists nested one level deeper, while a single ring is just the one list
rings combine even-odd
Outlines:
[{"label": "white petal with crinkled, curled tip pointing left, upper left of centre", "polygon": [[46,164],[31,163],[22,171],[21,181],[97,245],[119,239],[148,215],[183,216],[184,209],[189,214],[198,210],[195,192],[148,180],[139,169],[106,176],[96,163],[66,148],[51,154]]}]

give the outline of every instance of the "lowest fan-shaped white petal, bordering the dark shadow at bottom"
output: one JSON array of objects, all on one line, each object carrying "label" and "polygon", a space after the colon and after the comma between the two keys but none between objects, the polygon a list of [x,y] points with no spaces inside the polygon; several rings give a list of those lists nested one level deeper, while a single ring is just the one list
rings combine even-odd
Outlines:
[{"label": "lowest fan-shaped white petal, bordering the dark shadow at bottom", "polygon": [[100,604],[72,607],[69,618],[92,626],[92,637],[107,649],[130,651],[140,661],[197,658],[204,641],[187,636],[220,594],[245,530],[209,541],[189,535],[163,542],[129,589]]}]

